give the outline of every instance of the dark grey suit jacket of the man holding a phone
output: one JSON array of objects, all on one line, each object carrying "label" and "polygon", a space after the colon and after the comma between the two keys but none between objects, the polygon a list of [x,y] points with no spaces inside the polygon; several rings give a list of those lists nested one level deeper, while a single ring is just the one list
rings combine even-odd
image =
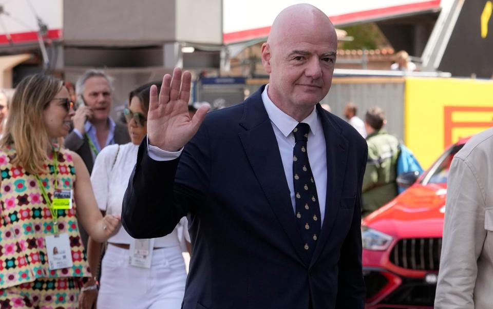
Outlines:
[{"label": "dark grey suit jacket of the man holding a phone", "polygon": [[[128,136],[128,129],[125,125],[116,123],[115,127],[115,144],[126,144],[130,142],[130,137]],[[81,156],[84,164],[89,171],[92,172],[92,166],[94,165],[94,159],[92,158],[92,151],[89,147],[87,137],[84,135],[84,139],[81,140],[79,136],[74,132],[70,132],[65,138],[65,148],[68,148]]]}]

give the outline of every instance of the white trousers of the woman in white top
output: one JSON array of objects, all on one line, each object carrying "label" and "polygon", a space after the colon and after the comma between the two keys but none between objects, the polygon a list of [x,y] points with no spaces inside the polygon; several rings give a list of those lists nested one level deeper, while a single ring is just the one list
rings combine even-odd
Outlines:
[{"label": "white trousers of the woman in white top", "polygon": [[179,246],[155,249],[150,268],[130,266],[129,250],[108,245],[101,265],[98,309],[179,309],[185,263]]}]

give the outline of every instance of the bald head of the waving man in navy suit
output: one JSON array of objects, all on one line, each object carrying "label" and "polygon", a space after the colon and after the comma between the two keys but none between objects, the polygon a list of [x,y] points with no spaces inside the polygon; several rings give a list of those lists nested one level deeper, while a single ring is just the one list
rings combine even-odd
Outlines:
[{"label": "bald head of the waving man in navy suit", "polygon": [[324,12],[309,4],[282,10],[262,45],[269,98],[303,120],[330,89],[336,52],[337,34]]}]

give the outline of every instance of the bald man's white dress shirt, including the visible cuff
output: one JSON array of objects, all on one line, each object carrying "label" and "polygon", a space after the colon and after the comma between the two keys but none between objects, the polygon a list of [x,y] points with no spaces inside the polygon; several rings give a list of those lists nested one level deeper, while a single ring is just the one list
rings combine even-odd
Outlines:
[{"label": "bald man's white dress shirt, including the visible cuff", "polygon": [[[295,144],[293,129],[298,122],[290,115],[280,110],[267,95],[269,85],[262,92],[263,105],[266,108],[272,128],[276,136],[279,153],[281,155],[282,166],[288,181],[288,187],[291,192],[291,203],[293,205],[293,216],[296,209],[294,180],[293,180],[293,148]],[[324,130],[322,123],[317,115],[316,108],[303,121],[310,126],[308,133],[307,151],[308,160],[312,169],[313,178],[317,187],[318,203],[320,205],[320,217],[322,224],[325,218],[325,202],[327,198],[327,146],[325,142]],[[148,145],[149,157],[157,161],[173,160],[180,156],[181,150],[177,152],[168,152],[156,146]]]}]

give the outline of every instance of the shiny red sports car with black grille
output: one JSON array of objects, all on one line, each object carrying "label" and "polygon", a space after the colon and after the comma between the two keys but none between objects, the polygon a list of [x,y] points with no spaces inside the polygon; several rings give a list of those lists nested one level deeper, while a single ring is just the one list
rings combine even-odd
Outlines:
[{"label": "shiny red sports car with black grille", "polygon": [[401,176],[398,182],[413,184],[363,219],[366,309],[433,308],[447,175],[466,141],[449,147],[421,176]]}]

